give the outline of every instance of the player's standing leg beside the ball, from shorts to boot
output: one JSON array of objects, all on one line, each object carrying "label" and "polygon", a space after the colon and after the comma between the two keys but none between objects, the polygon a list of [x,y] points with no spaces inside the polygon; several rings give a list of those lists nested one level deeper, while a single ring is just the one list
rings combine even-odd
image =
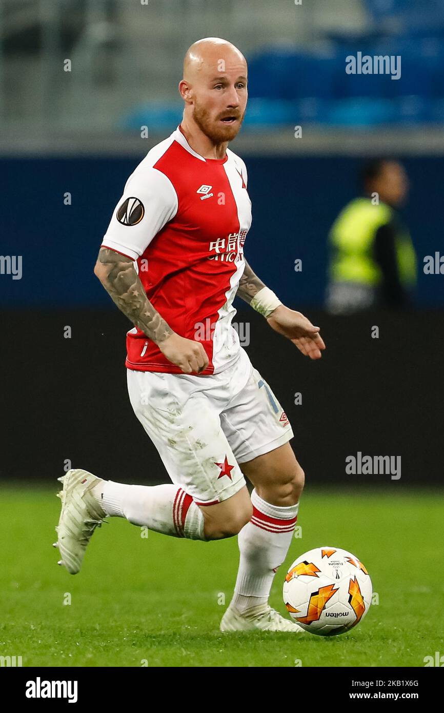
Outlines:
[{"label": "player's standing leg beside the ball, from shorts to boot", "polygon": [[293,431],[286,414],[257,369],[221,414],[221,422],[244,475],[254,485],[253,514],[238,536],[239,571],[221,629],[302,632],[268,605],[274,574],[296,525],[304,473],[288,443]]}]

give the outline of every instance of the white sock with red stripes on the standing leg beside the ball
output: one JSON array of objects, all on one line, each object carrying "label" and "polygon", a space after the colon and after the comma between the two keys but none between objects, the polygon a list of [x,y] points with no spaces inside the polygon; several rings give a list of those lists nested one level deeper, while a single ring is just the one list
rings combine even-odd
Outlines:
[{"label": "white sock with red stripes on the standing leg beside the ball", "polygon": [[266,604],[276,570],[286,558],[299,503],[285,508],[266,503],[252,491],[253,515],[237,535],[239,571],[232,604],[241,612]]}]

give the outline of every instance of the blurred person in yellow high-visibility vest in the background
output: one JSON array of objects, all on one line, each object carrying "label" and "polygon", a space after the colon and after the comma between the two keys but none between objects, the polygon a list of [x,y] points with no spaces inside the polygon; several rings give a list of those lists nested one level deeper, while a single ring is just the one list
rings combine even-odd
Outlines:
[{"label": "blurred person in yellow high-visibility vest in the background", "polygon": [[408,193],[403,165],[373,159],[361,171],[363,195],[339,213],[329,233],[326,309],[351,314],[371,307],[411,307],[417,265],[396,208]]}]

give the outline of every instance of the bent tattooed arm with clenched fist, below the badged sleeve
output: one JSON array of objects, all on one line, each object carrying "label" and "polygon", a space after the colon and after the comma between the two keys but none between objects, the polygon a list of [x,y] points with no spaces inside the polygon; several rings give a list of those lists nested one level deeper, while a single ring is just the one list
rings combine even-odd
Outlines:
[{"label": "bent tattooed arm with clenched fist, below the badged sleeve", "polygon": [[130,322],[158,345],[162,354],[185,372],[203,371],[208,357],[200,342],[176,334],[148,299],[135,272],[133,260],[108,247],[100,247],[94,274]]}]

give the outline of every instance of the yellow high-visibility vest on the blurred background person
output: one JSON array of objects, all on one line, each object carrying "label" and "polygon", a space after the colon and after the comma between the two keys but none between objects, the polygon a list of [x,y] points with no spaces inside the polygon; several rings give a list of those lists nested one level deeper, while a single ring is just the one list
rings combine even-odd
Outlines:
[{"label": "yellow high-visibility vest on the blurred background person", "polygon": [[[376,287],[382,272],[373,255],[376,232],[393,218],[386,203],[373,205],[370,198],[355,198],[341,210],[329,233],[333,256],[329,266],[332,282],[359,282]],[[410,234],[396,235],[396,257],[402,284],[416,282],[416,254]]]}]

